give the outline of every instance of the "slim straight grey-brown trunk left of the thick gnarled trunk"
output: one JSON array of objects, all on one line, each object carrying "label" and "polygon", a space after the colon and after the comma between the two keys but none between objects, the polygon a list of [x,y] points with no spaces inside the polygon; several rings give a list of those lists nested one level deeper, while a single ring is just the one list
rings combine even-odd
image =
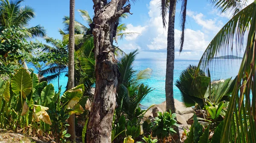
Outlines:
[{"label": "slim straight grey-brown trunk left of the thick gnarled trunk", "polygon": [[[74,70],[75,70],[75,0],[70,0],[70,25],[69,25],[69,42],[68,42],[68,90],[74,87]],[[68,118],[68,133],[71,135],[70,140],[76,140],[75,131],[75,114]]]}]

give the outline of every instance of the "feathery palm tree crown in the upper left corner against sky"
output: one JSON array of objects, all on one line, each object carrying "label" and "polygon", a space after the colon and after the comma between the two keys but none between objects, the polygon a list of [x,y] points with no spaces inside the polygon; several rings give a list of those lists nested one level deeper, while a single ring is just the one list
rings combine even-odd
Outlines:
[{"label": "feathery palm tree crown in the upper left corner against sky", "polygon": [[[29,6],[20,6],[23,0],[1,0],[0,1],[0,25],[3,27],[18,26],[26,28],[29,21],[35,18],[34,9]],[[41,25],[28,28],[33,37],[46,36],[46,31]]]}]

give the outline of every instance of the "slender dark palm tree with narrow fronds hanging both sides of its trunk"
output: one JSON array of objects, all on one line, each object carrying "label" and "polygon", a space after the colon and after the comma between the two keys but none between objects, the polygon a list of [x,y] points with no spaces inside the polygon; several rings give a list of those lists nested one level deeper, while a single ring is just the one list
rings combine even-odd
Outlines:
[{"label": "slender dark palm tree with narrow fronds hanging both sides of its trunk", "polygon": [[[172,113],[175,113],[174,98],[173,98],[173,76],[174,76],[174,59],[175,59],[175,13],[176,13],[177,0],[161,0],[161,14],[163,19],[163,27],[166,27],[166,16],[169,10],[169,21],[168,21],[168,33],[167,33],[167,58],[166,58],[166,109],[171,109]],[[181,7],[181,37],[180,37],[180,52],[183,49],[183,42],[185,36],[185,23],[186,23],[186,5],[187,0],[182,0]],[[175,127],[177,137],[175,142],[180,142],[179,130]]]}]

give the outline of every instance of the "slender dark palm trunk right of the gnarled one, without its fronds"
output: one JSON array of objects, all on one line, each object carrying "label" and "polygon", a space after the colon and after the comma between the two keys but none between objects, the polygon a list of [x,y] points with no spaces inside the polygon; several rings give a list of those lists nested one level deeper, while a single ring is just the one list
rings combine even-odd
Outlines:
[{"label": "slender dark palm trunk right of the gnarled one, without its fronds", "polygon": [[[176,0],[170,0],[168,34],[167,34],[167,59],[166,59],[166,110],[175,113],[174,98],[173,98],[173,76],[174,76],[174,57],[175,57],[175,43],[174,43],[174,24],[175,24]],[[180,134],[177,126],[174,126],[177,132],[173,136],[176,143],[180,143]]]}]

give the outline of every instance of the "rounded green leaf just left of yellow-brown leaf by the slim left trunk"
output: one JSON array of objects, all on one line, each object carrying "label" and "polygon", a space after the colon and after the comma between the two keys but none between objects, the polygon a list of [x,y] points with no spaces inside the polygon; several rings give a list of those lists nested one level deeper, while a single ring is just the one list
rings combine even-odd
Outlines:
[{"label": "rounded green leaf just left of yellow-brown leaf by the slim left trunk", "polygon": [[54,95],[55,93],[53,84],[48,84],[46,87],[44,87],[41,93],[41,101],[44,106],[48,105],[52,101]]}]

